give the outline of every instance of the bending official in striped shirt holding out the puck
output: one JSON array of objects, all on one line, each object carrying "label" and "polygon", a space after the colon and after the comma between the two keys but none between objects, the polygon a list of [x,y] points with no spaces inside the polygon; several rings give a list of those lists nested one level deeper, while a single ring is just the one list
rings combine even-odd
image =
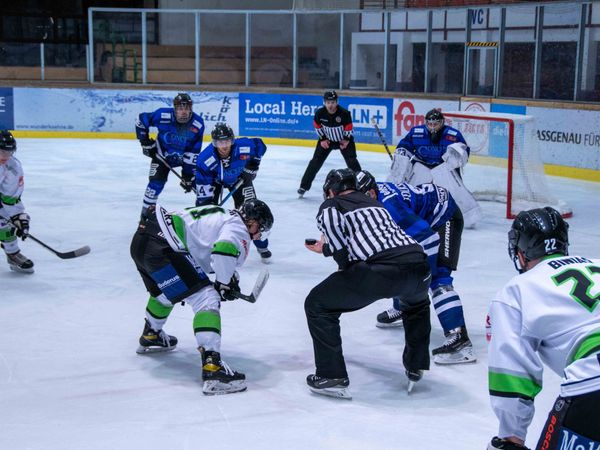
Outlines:
[{"label": "bending official in striped shirt holding out the puck", "polygon": [[381,203],[356,190],[352,170],[329,172],[323,191],[326,200],[317,215],[323,236],[305,245],[333,256],[339,270],[315,286],[304,303],[316,365],[306,382],[317,394],[351,398],[340,315],[382,298],[399,297],[406,305],[403,363],[410,391],[429,369],[431,273],[426,255]]}]

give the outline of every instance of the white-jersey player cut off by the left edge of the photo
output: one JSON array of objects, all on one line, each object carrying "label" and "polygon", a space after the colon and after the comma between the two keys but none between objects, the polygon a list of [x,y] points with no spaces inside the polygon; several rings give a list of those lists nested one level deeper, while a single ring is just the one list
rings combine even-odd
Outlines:
[{"label": "white-jersey player cut off by the left edge of the photo", "polygon": [[19,250],[17,238],[29,235],[29,215],[21,201],[23,168],[15,158],[17,142],[10,131],[0,130],[0,243],[11,270],[33,273],[33,262]]}]

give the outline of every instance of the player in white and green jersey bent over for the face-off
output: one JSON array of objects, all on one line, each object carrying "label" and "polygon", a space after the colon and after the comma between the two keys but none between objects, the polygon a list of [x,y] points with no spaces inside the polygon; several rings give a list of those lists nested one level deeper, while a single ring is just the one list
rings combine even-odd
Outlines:
[{"label": "player in white and green jersey bent over for the face-off", "polygon": [[[245,375],[232,370],[220,356],[220,303],[238,298],[240,268],[253,239],[273,225],[269,207],[258,199],[238,210],[215,205],[169,213],[157,206],[131,242],[135,261],[150,298],[137,352],[173,350],[177,338],[163,331],[173,305],[187,302],[194,311],[194,334],[202,357],[202,391],[228,394],[246,389]],[[207,274],[214,273],[211,283]],[[237,295],[236,295],[237,294]]]}]

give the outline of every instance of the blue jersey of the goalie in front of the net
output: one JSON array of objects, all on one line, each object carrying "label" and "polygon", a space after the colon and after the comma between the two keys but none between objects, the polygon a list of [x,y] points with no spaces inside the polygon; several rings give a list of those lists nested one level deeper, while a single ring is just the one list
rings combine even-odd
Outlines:
[{"label": "blue jersey of the goalie in front of the net", "polygon": [[[429,167],[435,167],[444,162],[442,155],[451,144],[462,142],[467,145],[465,138],[456,128],[444,126],[437,143],[431,141],[431,134],[425,125],[412,127],[408,134],[398,143],[396,149],[404,148],[408,156],[415,156],[420,162]],[[467,146],[467,153],[470,152]]]}]

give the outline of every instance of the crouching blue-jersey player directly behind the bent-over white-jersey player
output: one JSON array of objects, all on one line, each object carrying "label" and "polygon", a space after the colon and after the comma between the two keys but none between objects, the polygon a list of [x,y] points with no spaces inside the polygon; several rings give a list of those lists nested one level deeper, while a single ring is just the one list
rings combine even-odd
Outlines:
[{"label": "crouching blue-jersey player directly behind the bent-over white-jersey player", "polygon": [[[233,192],[239,208],[256,198],[253,181],[267,147],[260,138],[235,138],[231,127],[218,123],[211,132],[212,144],[196,160],[196,206],[219,204],[223,188]],[[241,185],[237,185],[241,181]],[[253,241],[263,262],[271,258],[268,239]]]}]

